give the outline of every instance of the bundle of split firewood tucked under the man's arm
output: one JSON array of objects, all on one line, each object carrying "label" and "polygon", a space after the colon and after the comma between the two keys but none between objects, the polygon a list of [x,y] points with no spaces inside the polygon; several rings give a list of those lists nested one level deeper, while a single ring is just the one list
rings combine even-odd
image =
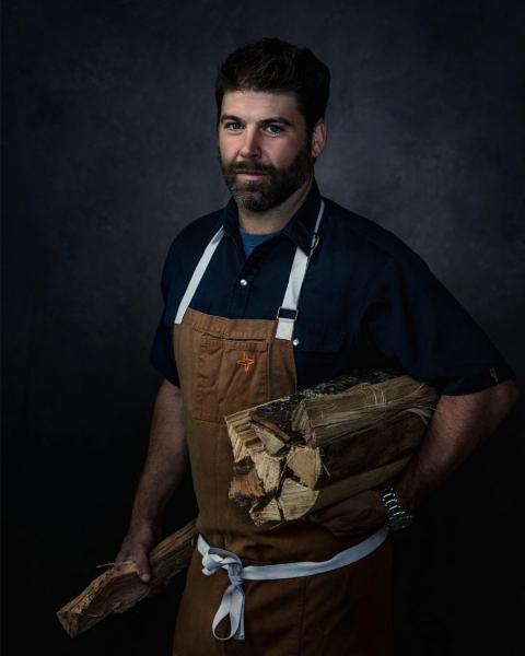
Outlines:
[{"label": "bundle of split firewood tucked under the man's arm", "polygon": [[393,371],[359,371],[225,418],[230,499],[256,525],[298,519],[393,478],[439,399]]}]

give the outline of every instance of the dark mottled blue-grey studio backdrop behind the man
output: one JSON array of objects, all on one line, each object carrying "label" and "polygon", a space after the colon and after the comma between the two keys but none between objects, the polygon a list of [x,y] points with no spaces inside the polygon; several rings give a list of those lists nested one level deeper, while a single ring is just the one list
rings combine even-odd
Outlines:
[{"label": "dark mottled blue-grey studio backdrop behind the man", "polygon": [[[178,230],[222,206],[213,77],[264,35],[332,72],[322,192],[416,249],[523,351],[521,2],[3,3],[3,635],[11,655],[170,654],[184,578],[77,641],[54,613],[113,560],[159,374]],[[517,654],[523,410],[396,538],[401,655]],[[195,513],[187,481],[167,513]]]}]

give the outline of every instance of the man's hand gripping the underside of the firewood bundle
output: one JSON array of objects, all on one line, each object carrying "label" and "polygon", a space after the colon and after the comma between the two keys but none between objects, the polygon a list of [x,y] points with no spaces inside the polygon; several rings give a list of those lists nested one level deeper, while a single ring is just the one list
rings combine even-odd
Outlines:
[{"label": "man's hand gripping the underside of the firewood bundle", "polygon": [[336,538],[351,538],[377,530],[387,523],[386,508],[375,490],[360,492],[350,499],[307,515]]}]

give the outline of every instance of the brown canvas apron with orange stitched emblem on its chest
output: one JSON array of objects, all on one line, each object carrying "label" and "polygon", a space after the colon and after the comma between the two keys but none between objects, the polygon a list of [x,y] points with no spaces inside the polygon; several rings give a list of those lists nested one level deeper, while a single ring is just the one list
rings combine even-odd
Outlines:
[{"label": "brown canvas apron with orange stitched emblem on its chest", "polygon": [[[322,211],[318,221],[320,215]],[[220,233],[213,237],[214,247]],[[210,258],[209,254],[208,261]],[[194,289],[189,289],[190,283],[185,294],[186,304],[206,266],[199,262]],[[288,292],[285,307],[290,307]],[[290,319],[226,319],[189,307],[183,307],[177,317],[180,323],[175,323],[174,349],[199,506],[198,532],[210,546],[237,554],[244,565],[325,561],[363,540],[365,535],[338,539],[304,519],[257,527],[247,509],[228,496],[233,456],[224,415],[296,391],[290,325],[284,325],[289,339],[277,337]],[[213,576],[202,573],[201,555],[195,548],[175,626],[174,656],[393,653],[389,539],[362,560],[331,572],[245,581],[243,641],[221,641],[212,634],[213,617],[229,584],[224,570]],[[219,635],[229,635],[228,624],[224,620],[219,625]]]}]

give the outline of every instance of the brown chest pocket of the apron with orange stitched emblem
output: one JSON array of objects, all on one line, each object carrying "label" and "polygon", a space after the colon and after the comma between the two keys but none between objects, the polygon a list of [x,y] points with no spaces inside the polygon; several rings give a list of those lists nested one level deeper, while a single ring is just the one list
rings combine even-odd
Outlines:
[{"label": "brown chest pocket of the apron with orange stitched emblem", "polygon": [[268,341],[203,333],[194,377],[194,418],[224,415],[268,400]]}]

